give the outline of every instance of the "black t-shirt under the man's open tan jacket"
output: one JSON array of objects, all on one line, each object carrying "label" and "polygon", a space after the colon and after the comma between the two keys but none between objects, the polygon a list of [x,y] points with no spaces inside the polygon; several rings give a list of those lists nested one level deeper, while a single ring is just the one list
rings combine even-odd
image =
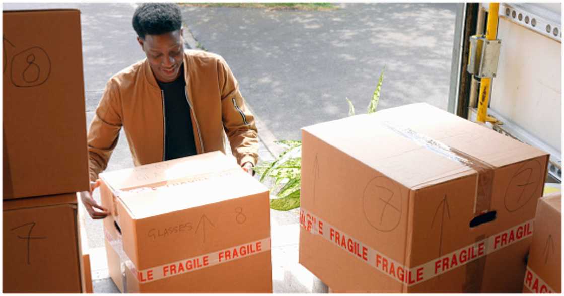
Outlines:
[{"label": "black t-shirt under the man's open tan jacket", "polygon": [[186,98],[184,65],[180,75],[171,82],[160,82],[165,101],[165,160],[196,155],[196,142],[192,129],[192,114]]}]

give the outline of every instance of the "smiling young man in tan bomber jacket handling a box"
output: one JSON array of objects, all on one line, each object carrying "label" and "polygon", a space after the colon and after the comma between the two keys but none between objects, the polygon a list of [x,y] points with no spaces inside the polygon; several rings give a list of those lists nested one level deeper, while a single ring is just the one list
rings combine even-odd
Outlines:
[{"label": "smiling young man in tan bomber jacket handling a box", "polygon": [[147,59],[109,79],[88,132],[90,192],[81,199],[92,219],[108,215],[91,193],[122,126],[135,166],[225,152],[223,131],[245,171],[257,163],[257,127],[237,80],[221,56],[184,50],[179,6],[144,3],[133,28]]}]

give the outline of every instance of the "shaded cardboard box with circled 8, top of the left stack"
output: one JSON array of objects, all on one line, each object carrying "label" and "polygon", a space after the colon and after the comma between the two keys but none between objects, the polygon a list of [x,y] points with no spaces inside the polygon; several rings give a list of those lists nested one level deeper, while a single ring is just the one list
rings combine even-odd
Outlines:
[{"label": "shaded cardboard box with circled 8, top of the left stack", "polygon": [[2,17],[3,200],[89,190],[80,11]]}]

